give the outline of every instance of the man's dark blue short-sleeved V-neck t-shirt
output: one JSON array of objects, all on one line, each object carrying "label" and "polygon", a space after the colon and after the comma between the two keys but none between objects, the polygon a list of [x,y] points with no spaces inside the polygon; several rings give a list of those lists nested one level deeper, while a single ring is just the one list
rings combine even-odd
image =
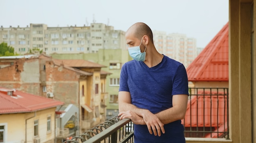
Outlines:
[{"label": "man's dark blue short-sleeved V-neck t-shirt", "polygon": [[[130,92],[131,102],[138,108],[159,113],[173,106],[173,95],[189,94],[186,69],[167,56],[150,68],[132,60],[121,68],[119,91]],[[135,143],[185,143],[181,120],[164,125],[164,130],[165,134],[158,137],[150,134],[146,125],[134,124]]]}]

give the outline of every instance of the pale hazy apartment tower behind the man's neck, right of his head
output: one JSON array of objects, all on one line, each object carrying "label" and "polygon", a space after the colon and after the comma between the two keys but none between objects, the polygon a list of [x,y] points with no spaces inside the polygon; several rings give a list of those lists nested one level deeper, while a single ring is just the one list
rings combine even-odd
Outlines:
[{"label": "pale hazy apartment tower behind the man's neck, right of his head", "polygon": [[185,34],[166,34],[153,31],[155,47],[158,52],[175,59],[188,67],[197,56],[196,39]]}]

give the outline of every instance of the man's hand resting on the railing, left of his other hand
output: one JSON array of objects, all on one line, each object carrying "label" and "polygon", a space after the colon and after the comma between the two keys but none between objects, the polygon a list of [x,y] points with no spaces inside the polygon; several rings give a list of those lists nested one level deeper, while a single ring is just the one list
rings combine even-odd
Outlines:
[{"label": "man's hand resting on the railing, left of his other hand", "polygon": [[146,125],[143,118],[137,115],[136,113],[132,111],[123,111],[118,114],[120,116],[120,119],[129,118],[132,120],[134,124],[138,125]]}]

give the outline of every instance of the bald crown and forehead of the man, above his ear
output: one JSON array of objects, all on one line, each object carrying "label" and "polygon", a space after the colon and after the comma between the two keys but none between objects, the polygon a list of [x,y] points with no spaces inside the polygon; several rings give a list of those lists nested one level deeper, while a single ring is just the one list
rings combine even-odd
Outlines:
[{"label": "bald crown and forehead of the man, above his ear", "polygon": [[128,33],[132,34],[137,39],[141,39],[144,35],[147,35],[149,41],[153,43],[153,33],[147,24],[142,22],[135,23],[126,31],[126,34]]}]

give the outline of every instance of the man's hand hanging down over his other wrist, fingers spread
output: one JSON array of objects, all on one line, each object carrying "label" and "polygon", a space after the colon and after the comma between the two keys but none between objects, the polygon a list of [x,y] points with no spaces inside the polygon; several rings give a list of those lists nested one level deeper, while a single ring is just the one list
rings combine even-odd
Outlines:
[{"label": "man's hand hanging down over his other wrist, fingers spread", "polygon": [[[151,113],[148,110],[145,110],[144,114],[143,114],[143,119],[146,123],[146,125],[148,126],[148,131],[150,134],[152,134],[154,132],[154,135],[160,137],[161,136],[161,130],[162,133],[165,133],[164,131],[164,124],[158,119],[158,117],[156,115],[154,115],[153,113]],[[152,132],[153,130],[153,132]]]}]

